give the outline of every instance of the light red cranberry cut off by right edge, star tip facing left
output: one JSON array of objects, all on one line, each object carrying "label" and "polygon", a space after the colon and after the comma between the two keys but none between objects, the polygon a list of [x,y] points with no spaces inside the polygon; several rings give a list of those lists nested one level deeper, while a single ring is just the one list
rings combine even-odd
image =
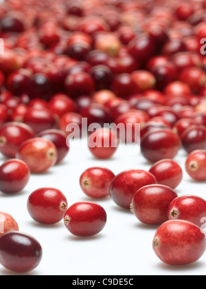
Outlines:
[{"label": "light red cranberry cut off by right edge, star tip facing left", "polygon": [[192,151],[185,162],[185,169],[191,178],[198,181],[206,180],[206,150]]}]

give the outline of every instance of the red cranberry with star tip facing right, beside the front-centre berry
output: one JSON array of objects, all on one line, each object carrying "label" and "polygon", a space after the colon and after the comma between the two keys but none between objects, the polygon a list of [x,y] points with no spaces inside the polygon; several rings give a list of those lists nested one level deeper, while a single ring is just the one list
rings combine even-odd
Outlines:
[{"label": "red cranberry with star tip facing right, beside the front-centre berry", "polygon": [[67,199],[58,189],[37,189],[28,197],[27,210],[33,220],[41,224],[60,222],[67,210]]}]

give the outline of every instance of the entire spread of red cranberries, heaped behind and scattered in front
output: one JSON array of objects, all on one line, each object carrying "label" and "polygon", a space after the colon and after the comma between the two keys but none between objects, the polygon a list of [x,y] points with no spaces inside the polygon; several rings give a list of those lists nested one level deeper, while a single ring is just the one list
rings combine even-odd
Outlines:
[{"label": "entire spread of red cranberries, heaped behind and scattered in front", "polygon": [[[37,189],[27,198],[32,219],[93,236],[107,218],[98,200],[108,197],[159,225],[153,249],[165,264],[197,261],[206,248],[206,201],[174,191],[183,180],[174,158],[182,150],[187,174],[206,181],[205,11],[205,0],[1,3],[1,192],[19,193],[33,174],[58,169],[87,119],[87,129],[100,126],[87,134],[94,158],[113,158],[130,135],[150,170],[88,168],[80,187],[91,202],[68,204],[58,189]],[[124,125],[124,137],[105,124]],[[0,263],[15,272],[36,268],[41,244],[8,213],[0,212],[0,224]]]}]

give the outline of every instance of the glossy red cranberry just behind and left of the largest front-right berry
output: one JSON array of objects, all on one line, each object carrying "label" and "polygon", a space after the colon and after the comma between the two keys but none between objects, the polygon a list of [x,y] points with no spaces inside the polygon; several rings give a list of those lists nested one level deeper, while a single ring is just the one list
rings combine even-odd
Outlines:
[{"label": "glossy red cranberry just behind and left of the largest front-right berry", "polygon": [[178,195],[168,186],[151,184],[133,196],[130,210],[137,219],[148,225],[159,225],[168,220],[168,206]]}]

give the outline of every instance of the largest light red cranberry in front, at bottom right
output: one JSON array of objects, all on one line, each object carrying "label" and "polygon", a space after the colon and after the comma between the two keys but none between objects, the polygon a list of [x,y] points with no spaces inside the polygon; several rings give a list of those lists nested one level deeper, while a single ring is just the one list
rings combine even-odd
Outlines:
[{"label": "largest light red cranberry in front, at bottom right", "polygon": [[205,253],[205,248],[205,234],[201,228],[184,220],[163,223],[153,240],[157,257],[172,266],[194,263]]}]

